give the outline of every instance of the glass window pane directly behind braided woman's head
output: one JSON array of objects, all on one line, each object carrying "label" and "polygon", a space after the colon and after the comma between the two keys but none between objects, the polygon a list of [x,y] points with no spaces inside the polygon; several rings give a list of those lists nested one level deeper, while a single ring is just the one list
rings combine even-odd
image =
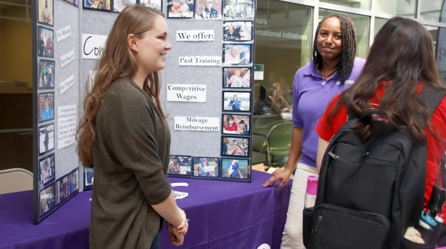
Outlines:
[{"label": "glass window pane directly behind braided woman's head", "polygon": [[370,30],[370,17],[365,15],[358,15],[352,13],[339,12],[331,9],[319,9],[319,21],[324,18],[324,16],[342,13],[350,16],[356,26],[357,35],[357,56],[361,58],[366,58],[369,51],[369,30]]}]

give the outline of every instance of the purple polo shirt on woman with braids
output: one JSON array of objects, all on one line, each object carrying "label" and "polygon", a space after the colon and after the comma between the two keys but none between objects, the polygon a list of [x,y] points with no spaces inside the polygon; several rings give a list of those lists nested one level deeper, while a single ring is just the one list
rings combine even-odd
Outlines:
[{"label": "purple polo shirt on woman with braids", "polygon": [[[303,128],[302,156],[299,162],[316,167],[319,136],[314,130],[332,98],[353,84],[364,67],[365,60],[356,57],[350,76],[340,86],[332,75],[328,80],[316,71],[313,61],[297,70],[293,89],[293,124]],[[325,86],[322,87],[325,81]]]}]

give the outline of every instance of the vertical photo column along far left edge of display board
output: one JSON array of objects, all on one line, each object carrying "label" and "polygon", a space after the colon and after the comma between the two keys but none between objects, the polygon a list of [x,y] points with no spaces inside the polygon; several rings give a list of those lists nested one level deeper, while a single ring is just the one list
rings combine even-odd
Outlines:
[{"label": "vertical photo column along far left edge of display board", "polygon": [[[48,215],[56,206],[55,202],[55,123],[54,89],[55,69],[54,47],[55,33],[54,0],[37,0],[37,197],[38,217]],[[42,92],[53,90],[52,92]],[[51,123],[49,123],[51,122]]]}]

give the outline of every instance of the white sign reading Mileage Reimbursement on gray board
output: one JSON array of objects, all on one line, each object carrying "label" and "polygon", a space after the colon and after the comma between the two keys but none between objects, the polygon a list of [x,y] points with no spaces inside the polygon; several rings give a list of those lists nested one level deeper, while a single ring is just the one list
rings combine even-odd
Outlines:
[{"label": "white sign reading Mileage Reimbursement on gray board", "polygon": [[220,118],[175,117],[175,130],[220,131]]}]

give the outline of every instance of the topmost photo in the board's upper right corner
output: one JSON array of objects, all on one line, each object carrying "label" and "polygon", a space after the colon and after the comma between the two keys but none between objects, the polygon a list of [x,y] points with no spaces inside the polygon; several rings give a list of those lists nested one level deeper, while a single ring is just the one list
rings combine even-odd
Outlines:
[{"label": "topmost photo in the board's upper right corner", "polygon": [[250,19],[254,18],[253,0],[223,0],[223,18]]}]

